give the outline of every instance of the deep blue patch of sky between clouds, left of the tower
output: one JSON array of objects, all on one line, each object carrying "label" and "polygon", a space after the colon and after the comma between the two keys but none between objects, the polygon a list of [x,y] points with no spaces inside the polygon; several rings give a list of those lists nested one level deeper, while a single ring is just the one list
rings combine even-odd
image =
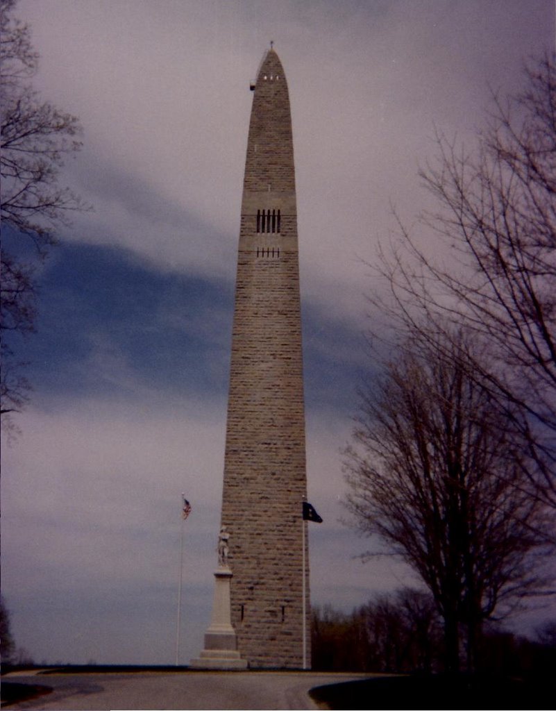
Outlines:
[{"label": "deep blue patch of sky between clouds, left of the tower", "polygon": [[223,395],[232,287],[148,269],[117,247],[61,245],[41,279],[28,343],[40,397]]}]

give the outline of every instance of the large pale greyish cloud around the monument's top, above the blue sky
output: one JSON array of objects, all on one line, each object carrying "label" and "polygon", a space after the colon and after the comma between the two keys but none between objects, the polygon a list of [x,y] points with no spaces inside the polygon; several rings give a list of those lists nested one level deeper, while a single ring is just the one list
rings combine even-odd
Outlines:
[{"label": "large pale greyish cloud around the monument's top, above the blue sky", "polygon": [[433,122],[471,141],[488,85],[515,90],[554,28],[550,0],[47,0],[21,14],[42,54],[38,84],[85,126],[73,169],[97,209],[80,237],[225,279],[247,85],[274,38],[292,95],[302,288],[354,321],[368,289],[357,260],[392,228],[390,201],[411,219],[429,199],[415,176],[434,154]]}]

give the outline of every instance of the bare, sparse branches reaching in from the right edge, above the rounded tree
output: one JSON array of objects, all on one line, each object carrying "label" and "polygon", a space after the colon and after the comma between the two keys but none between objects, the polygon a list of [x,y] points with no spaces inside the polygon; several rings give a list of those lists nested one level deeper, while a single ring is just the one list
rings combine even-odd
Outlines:
[{"label": "bare, sparse branches reaching in from the right edge, above the rounded tree", "polygon": [[[438,134],[438,161],[421,172],[439,205],[424,227],[449,248],[449,260],[431,259],[402,227],[402,250],[383,258],[383,274],[402,331],[415,333],[424,315],[439,349],[454,332],[447,321],[483,344],[488,360],[475,363],[476,378],[528,442],[530,490],[556,506],[554,55],[526,78],[517,97],[495,97],[476,152]],[[449,356],[457,356],[453,348]]]}]

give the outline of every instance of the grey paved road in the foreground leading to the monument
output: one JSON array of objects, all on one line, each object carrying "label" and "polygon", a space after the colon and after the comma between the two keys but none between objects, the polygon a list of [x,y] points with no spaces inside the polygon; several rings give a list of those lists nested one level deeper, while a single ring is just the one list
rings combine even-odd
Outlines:
[{"label": "grey paved road in the foreground leading to the monument", "polygon": [[163,711],[317,709],[314,686],[363,675],[313,672],[98,673],[17,675],[6,681],[52,687],[53,693],[10,709]]}]

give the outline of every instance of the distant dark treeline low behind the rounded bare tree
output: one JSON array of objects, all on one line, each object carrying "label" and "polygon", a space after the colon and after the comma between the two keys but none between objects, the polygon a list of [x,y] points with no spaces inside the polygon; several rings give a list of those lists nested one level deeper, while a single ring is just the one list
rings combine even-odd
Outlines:
[{"label": "distant dark treeline low behind the rounded bare tree", "polygon": [[[445,669],[442,619],[427,593],[402,589],[351,613],[315,608],[312,623],[314,670],[427,674]],[[522,678],[552,675],[556,620],[535,636],[533,641],[489,626],[481,635],[476,671]],[[465,657],[462,649],[462,665]]]}]

